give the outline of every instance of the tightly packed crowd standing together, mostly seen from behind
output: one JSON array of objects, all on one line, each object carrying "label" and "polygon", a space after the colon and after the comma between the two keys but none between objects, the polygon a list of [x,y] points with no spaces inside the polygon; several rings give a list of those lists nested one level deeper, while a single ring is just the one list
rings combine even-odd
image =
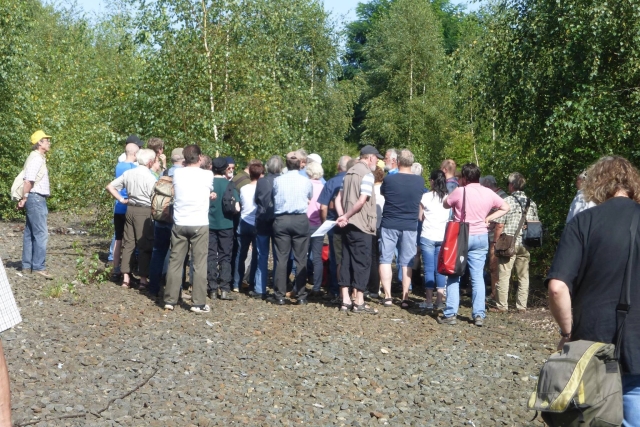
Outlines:
[{"label": "tightly packed crowd standing together, mostly seen from behind", "polygon": [[[508,310],[514,266],[516,308],[527,308],[528,248],[515,236],[513,256],[501,259],[493,251],[502,233],[518,231],[528,200],[519,173],[509,175],[508,195],[494,177],[481,177],[477,165],[458,169],[453,159],[425,182],[407,149],[388,149],[383,156],[364,146],[357,158],[340,157],[336,175],[327,180],[322,158],[304,149],[265,163],[250,160],[236,172],[232,157],[212,159],[197,145],[174,149],[170,167],[161,139],[146,146],[129,136],[106,187],[116,199],[110,260],[113,280],[125,288],[133,284],[136,263],[139,289],[167,310],[190,299],[193,312],[206,313],[213,301],[234,300],[235,292],[245,291],[277,305],[324,300],[340,311],[376,314],[394,305],[395,261],[399,305],[413,306],[410,294],[423,289],[420,308],[441,311],[439,323],[455,324],[461,277],[437,269],[451,220],[470,228],[462,279],[471,287],[473,322],[483,325],[487,303],[491,311]],[[170,189],[172,213],[154,218],[154,198],[163,185]],[[536,205],[530,205],[527,220],[537,221]],[[333,226],[326,235],[318,233],[326,221]]]}]

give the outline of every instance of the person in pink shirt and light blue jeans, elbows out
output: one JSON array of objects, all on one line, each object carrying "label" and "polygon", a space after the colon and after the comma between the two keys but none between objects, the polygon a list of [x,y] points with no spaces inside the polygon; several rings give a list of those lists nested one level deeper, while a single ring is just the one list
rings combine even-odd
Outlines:
[{"label": "person in pink shirt and light blue jeans, elbows out", "polygon": [[[471,317],[476,326],[482,326],[485,318],[485,289],[483,269],[489,251],[487,226],[491,221],[509,211],[509,204],[502,197],[480,185],[480,168],[474,163],[462,166],[461,186],[443,200],[445,208],[453,208],[454,221],[468,224],[468,250],[466,263],[471,273]],[[489,214],[492,209],[497,209]],[[467,230],[467,227],[461,227]],[[445,240],[446,240],[445,236]],[[464,256],[464,254],[462,254]],[[460,276],[447,279],[447,307],[438,323],[455,325],[460,306]]]}]

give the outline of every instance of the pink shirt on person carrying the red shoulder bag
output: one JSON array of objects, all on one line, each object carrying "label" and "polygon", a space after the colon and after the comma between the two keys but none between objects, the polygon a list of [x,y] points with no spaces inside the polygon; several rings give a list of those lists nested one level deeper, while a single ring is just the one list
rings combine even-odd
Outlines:
[{"label": "pink shirt on person carrying the red shoulder bag", "polygon": [[454,210],[456,221],[461,220],[462,196],[464,193],[466,193],[467,199],[465,203],[465,222],[469,223],[469,235],[486,234],[487,223],[484,222],[484,219],[489,215],[491,209],[497,209],[502,206],[504,199],[492,190],[477,183],[458,187],[447,198],[447,203]]}]

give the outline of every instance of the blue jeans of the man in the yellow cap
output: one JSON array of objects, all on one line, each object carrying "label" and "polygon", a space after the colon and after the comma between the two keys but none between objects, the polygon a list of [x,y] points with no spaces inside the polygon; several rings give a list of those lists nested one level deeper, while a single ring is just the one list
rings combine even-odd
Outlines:
[{"label": "blue jeans of the man in the yellow cap", "polygon": [[42,271],[45,269],[47,255],[47,199],[36,193],[29,193],[25,203],[27,222],[22,238],[22,269]]}]

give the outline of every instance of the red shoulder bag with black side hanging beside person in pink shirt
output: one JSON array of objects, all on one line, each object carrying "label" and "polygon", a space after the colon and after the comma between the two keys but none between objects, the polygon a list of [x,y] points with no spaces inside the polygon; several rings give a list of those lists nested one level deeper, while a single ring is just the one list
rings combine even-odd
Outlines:
[{"label": "red shoulder bag with black side hanging beside person in pink shirt", "polygon": [[469,223],[466,219],[466,189],[462,189],[462,216],[460,222],[449,221],[444,232],[444,241],[438,254],[438,273],[445,276],[462,276],[467,269],[469,252]]}]

